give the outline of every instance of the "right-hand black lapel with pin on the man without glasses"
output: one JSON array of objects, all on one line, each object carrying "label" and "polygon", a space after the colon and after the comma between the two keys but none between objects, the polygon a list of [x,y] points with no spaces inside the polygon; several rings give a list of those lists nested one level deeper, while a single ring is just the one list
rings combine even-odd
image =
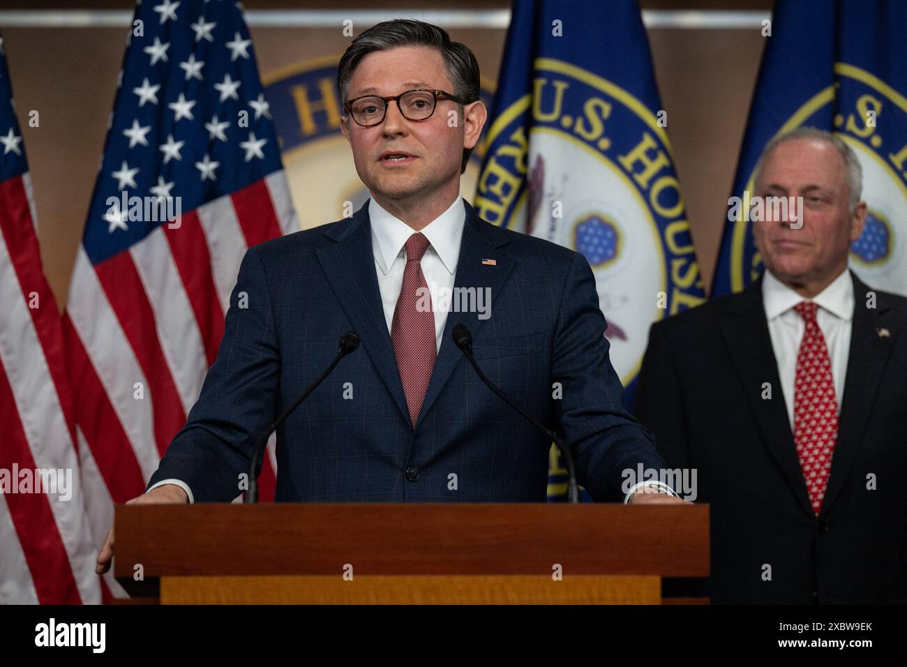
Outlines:
[{"label": "right-hand black lapel with pin on the man without glasses", "polygon": [[[828,488],[822,502],[822,515],[828,511],[834,498],[844,486],[844,480],[853,466],[853,459],[860,448],[866,422],[873,412],[875,395],[885,365],[894,348],[897,324],[884,295],[876,292],[875,308],[866,308],[866,293],[871,291],[853,272],[853,322],[851,344],[847,358],[847,375],[844,377],[844,397],[838,437],[832,456],[832,470]],[[879,331],[887,329],[887,336]]]}]

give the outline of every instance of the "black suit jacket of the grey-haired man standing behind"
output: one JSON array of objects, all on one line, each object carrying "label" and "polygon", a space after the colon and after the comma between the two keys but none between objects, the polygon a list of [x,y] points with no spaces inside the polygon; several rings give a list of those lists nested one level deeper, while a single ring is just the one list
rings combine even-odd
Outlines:
[{"label": "black suit jacket of the grey-haired man standing behind", "polygon": [[669,467],[697,470],[697,502],[711,504],[715,603],[907,602],[907,299],[876,292],[870,309],[873,290],[855,276],[853,286],[840,427],[818,517],[762,280],[650,330],[635,412]]}]

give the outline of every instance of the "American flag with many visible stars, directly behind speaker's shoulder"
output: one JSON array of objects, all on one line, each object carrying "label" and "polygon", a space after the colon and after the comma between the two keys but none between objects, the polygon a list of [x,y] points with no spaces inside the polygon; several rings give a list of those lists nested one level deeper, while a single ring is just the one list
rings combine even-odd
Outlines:
[{"label": "American flag with many visible stars, directly behind speaker's shoulder", "polygon": [[[199,396],[244,253],[298,229],[239,3],[145,0],[118,83],[63,321],[98,546]],[[262,499],[274,468],[272,442]]]}]

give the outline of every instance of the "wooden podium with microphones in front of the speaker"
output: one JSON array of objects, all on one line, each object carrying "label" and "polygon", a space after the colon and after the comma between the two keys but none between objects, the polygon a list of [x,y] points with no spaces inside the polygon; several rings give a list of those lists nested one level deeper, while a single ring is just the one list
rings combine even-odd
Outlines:
[{"label": "wooden podium with microphones in front of the speaker", "polygon": [[163,604],[658,604],[708,576],[707,505],[116,505],[115,535]]}]

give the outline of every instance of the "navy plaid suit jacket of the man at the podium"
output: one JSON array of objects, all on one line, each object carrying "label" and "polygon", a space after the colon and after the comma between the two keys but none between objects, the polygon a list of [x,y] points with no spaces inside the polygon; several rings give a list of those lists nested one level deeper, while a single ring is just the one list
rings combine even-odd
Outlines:
[{"label": "navy plaid suit jacket of the man at the podium", "polygon": [[[218,358],[149,486],[180,479],[196,502],[239,495],[259,431],[354,330],[360,348],[278,428],[276,500],[545,501],[551,441],[483,385],[453,344],[457,322],[472,331],[488,378],[571,444],[579,483],[594,500],[623,499],[624,469],[663,466],[652,436],[622,406],[595,280],[579,253],[496,227],[466,203],[454,286],[489,288],[491,316],[448,314],[414,428],[367,205],[349,219],[250,248]],[[560,398],[552,397],[554,383]]]}]

